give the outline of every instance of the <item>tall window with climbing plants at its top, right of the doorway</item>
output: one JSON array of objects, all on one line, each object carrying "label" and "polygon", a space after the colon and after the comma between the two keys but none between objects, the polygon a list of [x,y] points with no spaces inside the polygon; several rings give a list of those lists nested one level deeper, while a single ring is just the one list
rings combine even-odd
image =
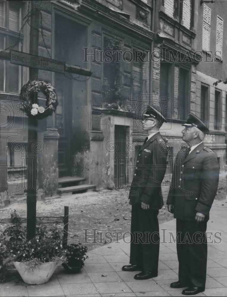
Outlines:
[{"label": "tall window with climbing plants at its top, right of the doorway", "polygon": [[121,41],[116,37],[103,37],[103,50],[106,55],[103,63],[103,102],[113,103],[122,99],[121,62],[116,53],[121,50]]}]

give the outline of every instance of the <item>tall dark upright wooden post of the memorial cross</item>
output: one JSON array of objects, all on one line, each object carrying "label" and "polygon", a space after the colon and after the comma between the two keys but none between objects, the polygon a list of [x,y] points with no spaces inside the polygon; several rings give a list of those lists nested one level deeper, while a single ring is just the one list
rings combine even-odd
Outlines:
[{"label": "tall dark upright wooden post of the memorial cross", "polygon": [[[39,7],[31,1],[30,54],[38,55],[39,42]],[[29,79],[38,77],[38,69],[29,67]],[[31,94],[31,101],[37,103],[37,92]],[[35,236],[36,229],[36,194],[37,194],[37,142],[38,120],[28,118],[28,158],[27,158],[27,239]]]}]

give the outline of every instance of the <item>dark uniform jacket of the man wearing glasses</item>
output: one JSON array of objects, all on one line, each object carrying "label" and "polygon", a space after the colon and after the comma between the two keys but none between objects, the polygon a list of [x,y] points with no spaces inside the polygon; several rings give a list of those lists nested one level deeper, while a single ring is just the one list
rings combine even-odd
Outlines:
[{"label": "dark uniform jacket of the man wearing glasses", "polygon": [[150,205],[153,210],[163,206],[161,183],[165,176],[168,149],[160,133],[153,135],[141,146],[129,193],[130,204]]}]

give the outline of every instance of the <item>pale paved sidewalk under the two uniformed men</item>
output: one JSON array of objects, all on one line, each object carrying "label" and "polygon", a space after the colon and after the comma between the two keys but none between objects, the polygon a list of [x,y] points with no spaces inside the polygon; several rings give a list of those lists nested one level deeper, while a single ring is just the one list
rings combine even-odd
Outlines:
[{"label": "pale paved sidewalk under the two uniformed men", "polygon": [[[206,289],[196,296],[227,296],[227,202],[215,200],[207,225],[208,261]],[[182,289],[170,288],[178,280],[176,220],[160,224],[158,276],[135,280],[136,272],[121,270],[129,264],[130,238],[106,244],[87,253],[84,268],[78,274],[66,274],[58,267],[43,285],[0,285],[0,296],[183,296]],[[220,240],[221,238],[221,240]],[[216,241],[216,243],[214,243]],[[213,243],[212,243],[213,242]]]}]

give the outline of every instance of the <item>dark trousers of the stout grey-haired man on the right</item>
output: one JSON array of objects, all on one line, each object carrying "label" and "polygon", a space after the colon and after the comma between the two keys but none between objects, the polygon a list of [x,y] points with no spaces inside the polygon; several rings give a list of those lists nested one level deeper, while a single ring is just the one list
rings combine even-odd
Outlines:
[{"label": "dark trousers of the stout grey-haired man on the right", "polygon": [[207,240],[206,222],[176,219],[176,250],[179,261],[179,281],[205,287]]}]

